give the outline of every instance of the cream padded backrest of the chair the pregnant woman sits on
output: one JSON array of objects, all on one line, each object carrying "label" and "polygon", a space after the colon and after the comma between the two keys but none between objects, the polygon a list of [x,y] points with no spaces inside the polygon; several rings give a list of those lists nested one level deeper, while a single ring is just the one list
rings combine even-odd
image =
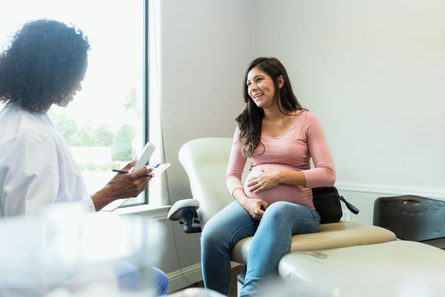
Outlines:
[{"label": "cream padded backrest of the chair the pregnant woman sits on", "polygon": [[[198,138],[179,150],[179,161],[186,170],[201,227],[218,211],[234,201],[225,184],[232,138]],[[245,172],[250,163],[246,162]],[[243,177],[247,176],[245,173]]]}]

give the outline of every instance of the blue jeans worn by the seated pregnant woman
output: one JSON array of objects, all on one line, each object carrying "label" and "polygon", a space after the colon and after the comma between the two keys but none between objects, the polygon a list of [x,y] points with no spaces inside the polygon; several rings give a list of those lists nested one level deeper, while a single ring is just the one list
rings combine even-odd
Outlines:
[{"label": "blue jeans worn by the seated pregnant woman", "polygon": [[317,232],[319,225],[318,213],[302,204],[275,202],[269,205],[261,220],[254,220],[237,201],[230,203],[202,230],[205,287],[229,294],[230,251],[241,239],[253,236],[240,296],[256,294],[259,281],[275,275],[280,259],[291,250],[292,235]]}]

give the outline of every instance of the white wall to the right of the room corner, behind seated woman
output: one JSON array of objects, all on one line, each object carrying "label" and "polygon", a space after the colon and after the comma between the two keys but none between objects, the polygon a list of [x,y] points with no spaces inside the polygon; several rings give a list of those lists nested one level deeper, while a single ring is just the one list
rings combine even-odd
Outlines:
[{"label": "white wall to the right of the room corner, behind seated woman", "polygon": [[323,123],[337,185],[372,200],[366,223],[385,193],[445,197],[444,15],[435,0],[255,1],[254,56],[284,63]]}]

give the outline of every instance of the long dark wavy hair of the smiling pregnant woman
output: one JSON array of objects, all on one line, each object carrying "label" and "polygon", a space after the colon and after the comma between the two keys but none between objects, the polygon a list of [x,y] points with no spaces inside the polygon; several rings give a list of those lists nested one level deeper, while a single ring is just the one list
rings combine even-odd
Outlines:
[{"label": "long dark wavy hair of the smiling pregnant woman", "polygon": [[[296,95],[293,94],[291,81],[287,75],[286,69],[277,58],[256,58],[252,61],[247,70],[243,81],[243,97],[245,107],[243,111],[235,118],[238,128],[241,131],[239,141],[242,143],[242,152],[246,157],[253,155],[254,150],[261,143],[261,122],[264,117],[264,111],[258,107],[248,93],[248,74],[252,68],[257,67],[259,70],[266,72],[275,86],[275,103],[278,110],[283,114],[291,111],[304,110],[298,102]],[[282,88],[278,86],[278,77],[283,77],[284,84]]]}]

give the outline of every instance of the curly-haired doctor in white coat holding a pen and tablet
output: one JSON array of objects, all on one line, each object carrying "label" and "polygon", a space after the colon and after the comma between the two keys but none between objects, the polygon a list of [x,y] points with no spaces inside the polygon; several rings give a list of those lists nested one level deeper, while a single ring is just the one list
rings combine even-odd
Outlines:
[{"label": "curly-haired doctor in white coat holding a pen and tablet", "polygon": [[[115,175],[89,196],[70,150],[47,115],[67,106],[88,66],[90,45],[74,26],[48,19],[24,24],[0,54],[0,218],[32,214],[56,202],[78,202],[99,211],[119,198],[136,197],[152,169]],[[135,161],[123,170],[130,170]],[[161,271],[159,293],[168,279]]]}]

